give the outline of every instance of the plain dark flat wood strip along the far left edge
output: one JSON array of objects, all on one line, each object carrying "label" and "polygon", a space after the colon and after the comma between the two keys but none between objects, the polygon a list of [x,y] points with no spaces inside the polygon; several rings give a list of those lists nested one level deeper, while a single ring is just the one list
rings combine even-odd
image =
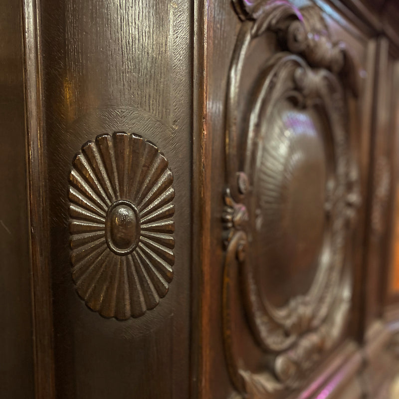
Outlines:
[{"label": "plain dark flat wood strip along the far left edge", "polygon": [[0,1],[0,397],[33,399],[20,6]]}]

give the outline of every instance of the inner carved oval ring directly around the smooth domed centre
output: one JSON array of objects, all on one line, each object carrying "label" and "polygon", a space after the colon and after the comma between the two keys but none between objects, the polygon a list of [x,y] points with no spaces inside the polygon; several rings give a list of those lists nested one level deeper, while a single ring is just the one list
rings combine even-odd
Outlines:
[{"label": "inner carved oval ring directly around the smooth domed centre", "polygon": [[[296,296],[283,307],[276,308],[269,302],[261,300],[257,292],[257,285],[253,276],[253,262],[248,259],[243,264],[243,282],[244,292],[246,296],[246,311],[250,315],[253,331],[259,344],[265,350],[282,351],[287,349],[298,338],[299,335],[309,329],[318,328],[321,321],[325,319],[328,309],[331,306],[332,295],[338,277],[342,270],[343,259],[342,246],[344,240],[341,235],[345,228],[345,220],[343,217],[336,215],[344,212],[346,199],[340,193],[346,192],[347,184],[347,148],[344,137],[343,121],[340,116],[343,115],[342,110],[336,109],[331,98],[342,99],[340,85],[331,72],[321,69],[317,73],[306,64],[306,62],[297,55],[280,53],[273,57],[270,61],[270,71],[260,91],[258,99],[251,114],[248,129],[247,154],[245,162],[245,174],[249,178],[249,185],[253,186],[256,180],[258,169],[255,166],[256,144],[262,138],[257,131],[258,120],[260,118],[259,110],[261,109],[259,102],[267,102],[267,108],[271,110],[275,103],[285,96],[297,95],[297,101],[300,102],[299,107],[310,107],[316,99],[321,100],[323,109],[328,116],[328,122],[331,127],[332,141],[334,144],[334,163],[335,174],[330,191],[328,203],[333,203],[332,209],[326,209],[326,212],[333,212],[331,215],[331,257],[332,261],[328,261],[323,271],[317,273],[311,289],[307,295]],[[334,88],[334,92],[323,90],[327,85]],[[266,99],[267,97],[267,99]],[[267,120],[270,112],[262,117]],[[250,137],[252,133],[252,137]],[[252,220],[251,228],[254,230],[255,221],[255,200],[256,196],[251,199],[245,198],[244,203],[248,210],[251,210]],[[252,203],[251,203],[252,202]],[[248,255],[248,258],[250,255]],[[320,269],[320,268],[319,268]],[[259,315],[262,315],[259,317]],[[266,318],[266,317],[267,318]]]}]

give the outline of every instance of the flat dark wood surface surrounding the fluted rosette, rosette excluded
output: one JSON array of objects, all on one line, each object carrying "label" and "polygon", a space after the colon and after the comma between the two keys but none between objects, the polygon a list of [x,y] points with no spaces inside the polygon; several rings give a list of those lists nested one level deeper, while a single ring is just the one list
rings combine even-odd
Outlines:
[{"label": "flat dark wood surface surrounding the fluted rosette, rosette excluded", "polygon": [[[191,4],[44,0],[41,16],[57,397],[188,398]],[[176,226],[168,294],[123,322],[92,312],[76,295],[67,194],[82,144],[121,131],[156,143],[168,159]]]}]

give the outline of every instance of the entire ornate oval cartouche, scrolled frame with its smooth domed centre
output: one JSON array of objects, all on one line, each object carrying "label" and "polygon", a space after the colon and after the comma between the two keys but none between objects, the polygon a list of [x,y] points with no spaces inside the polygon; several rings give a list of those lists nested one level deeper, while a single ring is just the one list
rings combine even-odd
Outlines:
[{"label": "entire ornate oval cartouche, scrolled frame with its smooth domed centre", "polygon": [[[234,5],[242,24],[227,86],[224,344],[236,390],[268,398],[300,387],[346,323],[347,242],[361,197],[343,80],[356,94],[357,72],[317,7],[299,11],[281,0]],[[270,31],[282,51],[265,54],[248,89],[241,78],[245,62],[253,62],[251,45]],[[278,295],[269,298],[271,271],[306,274],[309,265],[315,271],[307,292],[278,304]],[[242,352],[240,308],[263,354],[258,366]]]}]

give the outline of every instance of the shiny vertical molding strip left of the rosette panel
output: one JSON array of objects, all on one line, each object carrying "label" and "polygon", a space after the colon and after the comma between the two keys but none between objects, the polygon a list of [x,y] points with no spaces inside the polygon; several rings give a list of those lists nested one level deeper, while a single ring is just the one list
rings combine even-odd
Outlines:
[{"label": "shiny vertical molding strip left of the rosette panel", "polygon": [[26,175],[36,399],[55,398],[39,0],[22,0]]}]

